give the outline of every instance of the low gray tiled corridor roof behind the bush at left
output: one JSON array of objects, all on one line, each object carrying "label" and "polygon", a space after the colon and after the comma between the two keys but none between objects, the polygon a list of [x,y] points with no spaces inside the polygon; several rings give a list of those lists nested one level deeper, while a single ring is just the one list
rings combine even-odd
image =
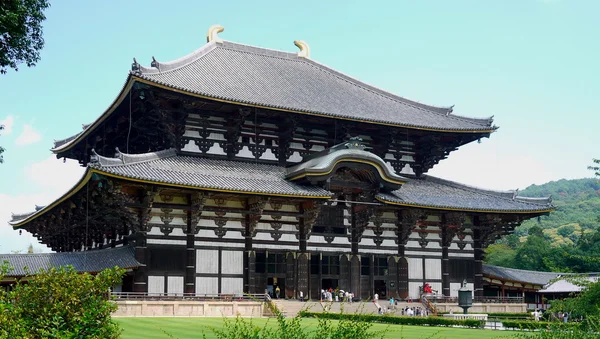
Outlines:
[{"label": "low gray tiled corridor roof behind the bush at left", "polygon": [[41,269],[71,265],[77,272],[96,273],[107,268],[134,268],[140,266],[135,260],[132,247],[62,253],[0,254],[0,262],[8,261],[13,268],[7,276],[21,277]]}]

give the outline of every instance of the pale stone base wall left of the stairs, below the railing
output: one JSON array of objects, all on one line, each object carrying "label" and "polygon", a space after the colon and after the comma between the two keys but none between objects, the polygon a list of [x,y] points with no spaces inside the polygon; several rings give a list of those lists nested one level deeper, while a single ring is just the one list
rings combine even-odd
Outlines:
[{"label": "pale stone base wall left of the stairs, below the railing", "polygon": [[255,301],[119,300],[114,317],[261,317],[263,304]]}]

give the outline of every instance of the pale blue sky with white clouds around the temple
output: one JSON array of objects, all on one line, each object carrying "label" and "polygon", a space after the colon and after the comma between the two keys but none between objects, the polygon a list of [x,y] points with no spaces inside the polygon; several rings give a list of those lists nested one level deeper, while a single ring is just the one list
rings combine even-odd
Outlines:
[{"label": "pale blue sky with white clouds around the temple", "polygon": [[600,1],[53,1],[38,66],[0,76],[0,252],[23,249],[4,221],[78,179],[53,139],[98,117],[133,57],[168,61],[225,40],[295,51],[395,94],[500,130],[432,174],[495,189],[590,176],[600,157]]}]

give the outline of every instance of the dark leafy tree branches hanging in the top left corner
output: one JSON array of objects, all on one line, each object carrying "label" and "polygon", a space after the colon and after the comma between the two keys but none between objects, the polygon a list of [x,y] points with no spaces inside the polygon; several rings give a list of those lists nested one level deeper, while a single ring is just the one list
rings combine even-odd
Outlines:
[{"label": "dark leafy tree branches hanging in the top left corner", "polygon": [[48,0],[0,1],[0,74],[19,64],[35,66],[44,47],[42,22]]}]

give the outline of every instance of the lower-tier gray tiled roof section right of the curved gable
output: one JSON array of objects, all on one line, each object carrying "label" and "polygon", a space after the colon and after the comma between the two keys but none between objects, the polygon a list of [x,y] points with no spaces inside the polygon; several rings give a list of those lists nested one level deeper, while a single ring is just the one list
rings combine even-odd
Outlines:
[{"label": "lower-tier gray tiled roof section right of the curved gable", "polygon": [[380,201],[434,209],[485,212],[550,211],[551,198],[524,198],[513,191],[492,191],[428,175],[409,180],[401,189],[377,195]]}]

